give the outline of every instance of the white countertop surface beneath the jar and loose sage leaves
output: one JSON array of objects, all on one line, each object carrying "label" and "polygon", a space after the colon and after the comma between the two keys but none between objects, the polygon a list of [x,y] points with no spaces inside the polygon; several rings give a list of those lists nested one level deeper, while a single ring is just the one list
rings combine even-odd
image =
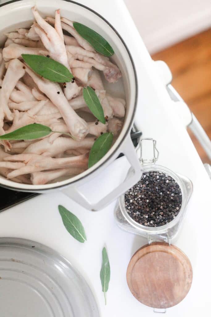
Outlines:
[{"label": "white countertop surface beneath the jar and loose sage leaves", "polygon": [[[56,1],[56,0],[53,0]],[[189,177],[194,192],[188,205],[176,245],[189,257],[193,267],[193,283],[187,297],[167,310],[168,316],[208,315],[210,304],[210,180],[183,127],[172,102],[164,92],[162,81],[154,73],[153,62],[139,38],[133,21],[121,0],[78,1],[104,16],[123,37],[131,51],[138,73],[140,94],[136,119],[143,137],[157,140],[159,165],[164,165]],[[112,5],[112,10],[111,10]],[[118,14],[116,14],[118,12]],[[153,74],[153,76],[152,76]],[[145,89],[149,87],[151,89]],[[143,89],[142,89],[143,88]],[[125,177],[128,163],[125,158],[112,166],[83,191],[91,197],[105,192],[110,184],[119,184]],[[58,211],[64,205],[82,221],[88,241],[78,243],[66,231]],[[72,202],[62,193],[40,195],[0,213],[0,236],[21,237],[43,243],[65,256],[78,268],[92,288],[102,317],[154,316],[152,309],[139,303],[130,293],[126,270],[133,253],[146,244],[139,236],[120,230],[114,221],[115,202],[102,211],[92,213]],[[99,272],[101,251],[106,245],[111,267],[107,306],[101,289]],[[78,316],[79,317],[79,316]]]}]

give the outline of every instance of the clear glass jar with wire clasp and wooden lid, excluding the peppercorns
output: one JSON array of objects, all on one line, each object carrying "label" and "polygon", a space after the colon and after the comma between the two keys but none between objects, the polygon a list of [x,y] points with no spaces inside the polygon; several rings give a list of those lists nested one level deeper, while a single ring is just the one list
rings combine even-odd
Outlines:
[{"label": "clear glass jar with wire clasp and wooden lid, excluding the peppercorns", "polygon": [[[142,142],[153,142],[153,158],[143,159]],[[166,308],[177,305],[188,294],[192,283],[192,267],[188,257],[172,244],[176,240],[184,219],[187,204],[193,191],[192,182],[185,176],[156,165],[159,152],[153,139],[140,140],[140,170],[143,173],[161,172],[173,178],[180,187],[182,203],[177,216],[169,223],[148,227],[134,221],[125,206],[125,195],[121,195],[115,208],[118,226],[130,233],[145,237],[148,243],[141,246],[132,256],[127,267],[127,285],[133,296],[142,304],[152,307],[155,313],[165,313]],[[137,152],[139,150],[137,149]],[[133,173],[128,171],[128,177]],[[129,190],[130,191],[130,190]],[[171,292],[179,286],[177,292]]]}]

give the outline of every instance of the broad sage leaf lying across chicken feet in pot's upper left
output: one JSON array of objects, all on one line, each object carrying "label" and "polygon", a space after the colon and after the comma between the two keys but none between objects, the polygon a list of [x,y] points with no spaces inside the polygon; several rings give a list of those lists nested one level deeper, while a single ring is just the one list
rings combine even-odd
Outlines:
[{"label": "broad sage leaf lying across chicken feet in pot's upper left", "polygon": [[22,54],[23,60],[35,73],[56,82],[69,82],[73,75],[63,64],[41,55]]}]

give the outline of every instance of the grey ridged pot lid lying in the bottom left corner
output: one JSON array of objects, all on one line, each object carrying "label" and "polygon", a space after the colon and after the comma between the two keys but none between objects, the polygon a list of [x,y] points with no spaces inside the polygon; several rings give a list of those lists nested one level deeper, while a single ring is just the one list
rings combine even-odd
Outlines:
[{"label": "grey ridged pot lid lying in the bottom left corner", "polygon": [[1,316],[99,317],[83,277],[40,243],[0,238]]}]

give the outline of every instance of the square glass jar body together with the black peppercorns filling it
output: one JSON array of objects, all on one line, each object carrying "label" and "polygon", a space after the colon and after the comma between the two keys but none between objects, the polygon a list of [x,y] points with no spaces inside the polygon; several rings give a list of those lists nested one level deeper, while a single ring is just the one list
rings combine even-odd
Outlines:
[{"label": "square glass jar body together with the black peppercorns filling it", "polygon": [[[143,165],[142,169],[140,181],[119,197],[115,209],[117,224],[148,240],[173,239],[184,218],[192,182],[154,163]],[[132,170],[127,177],[130,173]]]}]

